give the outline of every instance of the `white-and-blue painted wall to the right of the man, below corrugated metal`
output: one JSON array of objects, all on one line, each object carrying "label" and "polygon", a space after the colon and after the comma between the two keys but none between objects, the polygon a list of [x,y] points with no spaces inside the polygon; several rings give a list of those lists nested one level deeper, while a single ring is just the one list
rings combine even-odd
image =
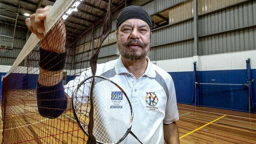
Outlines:
[{"label": "white-and-blue painted wall to the right of the man, below corrugated metal", "polygon": [[[197,62],[198,83],[247,83],[246,60],[250,58],[252,78],[256,78],[256,50],[226,54],[194,56],[181,59],[152,61],[166,70],[173,78],[177,102],[194,104],[193,62]],[[256,100],[256,84],[252,84]],[[199,85],[202,106],[248,111],[248,90],[241,85]],[[256,111],[254,101],[254,112]]]}]

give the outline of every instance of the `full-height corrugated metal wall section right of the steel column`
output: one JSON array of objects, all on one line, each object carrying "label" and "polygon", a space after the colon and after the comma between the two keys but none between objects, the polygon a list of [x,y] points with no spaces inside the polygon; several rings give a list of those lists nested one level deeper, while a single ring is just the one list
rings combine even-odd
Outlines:
[{"label": "full-height corrugated metal wall section right of the steel column", "polygon": [[256,1],[199,15],[198,35],[198,55],[255,50]]}]

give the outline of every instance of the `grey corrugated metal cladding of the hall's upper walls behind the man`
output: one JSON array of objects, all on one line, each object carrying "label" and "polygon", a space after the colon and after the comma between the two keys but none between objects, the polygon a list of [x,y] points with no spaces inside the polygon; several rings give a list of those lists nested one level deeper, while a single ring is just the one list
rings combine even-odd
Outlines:
[{"label": "grey corrugated metal cladding of the hall's upper walls behind the man", "polygon": [[[152,30],[151,49],[148,54],[152,61],[195,55],[193,0],[132,0],[127,3],[127,6],[130,5],[143,6],[150,15],[169,11],[169,25]],[[105,63],[118,57],[115,55],[117,45],[114,31],[116,30],[116,17],[123,7],[119,7],[112,13],[112,31],[103,43],[98,63]],[[187,10],[186,7],[191,7],[191,9]],[[184,13],[177,12],[178,10]],[[256,49],[256,0],[198,0],[197,23],[197,55]],[[0,35],[12,36],[13,29],[13,26],[0,23]],[[0,63],[11,65],[25,44],[26,29],[18,27],[16,31],[14,48],[6,53],[0,53]],[[101,31],[102,27],[95,28],[95,48]],[[0,37],[0,40],[11,41],[11,38]],[[71,69],[79,68],[81,65],[85,68],[91,49],[85,52],[78,51],[78,49],[86,42],[91,45],[90,40],[91,31],[88,31],[75,42],[75,50],[69,46],[67,63],[72,65],[72,61],[79,61],[74,66],[70,66]],[[89,55],[89,57],[85,59],[82,55]]]}]

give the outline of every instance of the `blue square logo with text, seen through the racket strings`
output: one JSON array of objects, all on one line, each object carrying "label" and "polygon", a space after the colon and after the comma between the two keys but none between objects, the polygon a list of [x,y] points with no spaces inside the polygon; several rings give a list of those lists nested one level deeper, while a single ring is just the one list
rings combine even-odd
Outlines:
[{"label": "blue square logo with text, seen through the racket strings", "polygon": [[123,93],[121,91],[111,92],[111,109],[122,109],[122,96]]}]

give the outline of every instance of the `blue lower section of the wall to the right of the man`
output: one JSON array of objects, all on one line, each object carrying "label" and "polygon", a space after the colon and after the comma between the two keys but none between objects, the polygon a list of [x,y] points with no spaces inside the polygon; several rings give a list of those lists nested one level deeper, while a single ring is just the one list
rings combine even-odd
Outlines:
[{"label": "blue lower section of the wall to the right of the man", "polygon": [[[193,72],[169,72],[169,74],[174,81],[177,102],[194,104],[191,103],[193,96]],[[247,83],[246,69],[197,71],[197,76],[198,83]],[[252,69],[252,78],[256,78],[256,69]],[[256,90],[254,83],[252,83],[253,91]],[[199,85],[201,105],[207,107],[248,111],[247,92],[247,87],[243,85]],[[256,94],[252,97],[255,100]]]}]

